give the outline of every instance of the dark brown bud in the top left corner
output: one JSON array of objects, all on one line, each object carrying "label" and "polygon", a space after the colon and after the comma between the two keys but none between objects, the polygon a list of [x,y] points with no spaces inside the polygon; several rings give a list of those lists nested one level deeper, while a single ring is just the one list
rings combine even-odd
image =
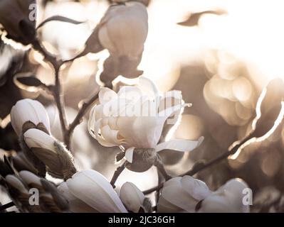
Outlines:
[{"label": "dark brown bud in the top left corner", "polygon": [[36,35],[36,0],[1,0],[0,23],[11,38],[28,45]]}]

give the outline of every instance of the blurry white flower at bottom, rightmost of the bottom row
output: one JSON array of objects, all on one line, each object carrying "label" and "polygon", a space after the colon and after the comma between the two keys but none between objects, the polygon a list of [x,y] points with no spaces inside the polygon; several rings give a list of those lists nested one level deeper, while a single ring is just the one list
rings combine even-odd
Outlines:
[{"label": "blurry white flower at bottom, rightmost of the bottom row", "polygon": [[248,213],[249,205],[243,204],[243,189],[248,184],[241,179],[231,179],[201,203],[199,212],[204,213]]}]

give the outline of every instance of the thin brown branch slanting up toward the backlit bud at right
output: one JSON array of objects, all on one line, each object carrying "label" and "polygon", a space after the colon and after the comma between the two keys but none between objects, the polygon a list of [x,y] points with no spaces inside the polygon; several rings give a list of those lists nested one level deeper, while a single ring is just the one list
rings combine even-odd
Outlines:
[{"label": "thin brown branch slanting up toward the backlit bud at right", "polygon": [[[234,153],[237,152],[238,148],[241,148],[241,145],[243,145],[243,143],[246,143],[246,141],[251,139],[251,134],[248,135],[246,138],[244,138],[243,140],[240,141],[240,143],[236,144],[233,148],[231,148],[231,150],[227,150],[225,153],[222,153],[221,155],[217,156],[216,158],[214,158],[213,160],[210,160],[209,162],[196,162],[196,165],[194,165],[194,167],[191,168],[191,170],[185,172],[182,175],[179,175],[179,177],[184,177],[185,175],[188,176],[193,176],[196,173],[200,172],[201,170],[205,170],[208,167],[211,167],[212,165],[215,165],[216,163],[220,162],[221,160],[226,159],[228,156],[233,155]],[[157,187],[152,187],[151,189],[148,189],[146,191],[144,191],[144,194],[150,194],[154,191],[160,190],[162,189],[164,183],[159,184]]]}]

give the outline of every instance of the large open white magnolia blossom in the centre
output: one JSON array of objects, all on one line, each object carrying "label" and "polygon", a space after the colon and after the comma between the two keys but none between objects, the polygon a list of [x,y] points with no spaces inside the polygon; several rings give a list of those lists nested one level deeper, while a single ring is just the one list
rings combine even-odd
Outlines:
[{"label": "large open white magnolia blossom in the centre", "polygon": [[122,145],[127,149],[125,157],[129,162],[135,148],[186,152],[203,140],[159,143],[164,126],[174,126],[189,104],[184,104],[179,91],[159,94],[156,84],[146,77],[140,77],[135,86],[121,87],[118,93],[102,88],[99,99],[100,104],[90,111],[89,132],[103,146]]}]

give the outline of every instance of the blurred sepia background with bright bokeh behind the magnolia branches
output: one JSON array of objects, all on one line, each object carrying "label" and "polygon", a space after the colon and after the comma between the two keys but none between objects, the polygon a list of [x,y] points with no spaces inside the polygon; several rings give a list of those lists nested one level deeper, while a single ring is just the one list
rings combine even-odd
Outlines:
[{"label": "blurred sepia background with bright bokeh behind the magnolia branches", "polygon": [[[106,0],[38,1],[38,21],[53,15],[66,16],[80,25],[51,22],[40,30],[49,51],[64,59],[83,48],[96,23],[105,13]],[[243,138],[256,117],[256,104],[271,79],[284,79],[284,3],[281,0],[152,0],[148,7],[149,35],[140,70],[157,83],[161,92],[181,90],[193,106],[184,111],[174,138],[204,143],[190,154],[164,153],[172,175],[189,170],[197,160],[211,160]],[[202,13],[203,12],[203,13]],[[78,103],[98,89],[95,75],[106,52],[80,57],[63,67],[67,113],[71,121]],[[52,133],[61,138],[52,96],[16,87],[15,74],[33,72],[46,84],[53,72],[33,50],[0,40],[0,152],[19,150],[9,124],[9,112],[23,97],[40,100],[51,117]],[[275,89],[275,92],[278,92]],[[277,96],[277,94],[275,94]],[[273,105],[273,100],[268,105]],[[268,119],[267,121],[270,121]],[[80,169],[92,167],[112,177],[116,148],[102,148],[90,138],[85,121],[75,129],[73,150]],[[252,211],[284,211],[283,123],[265,140],[251,143],[235,160],[224,160],[196,177],[217,189],[233,177],[244,179],[253,189]],[[117,184],[132,181],[140,189],[157,185],[154,167],[144,173],[125,170]],[[119,189],[119,187],[118,187]],[[1,198],[0,198],[1,201]]]}]

